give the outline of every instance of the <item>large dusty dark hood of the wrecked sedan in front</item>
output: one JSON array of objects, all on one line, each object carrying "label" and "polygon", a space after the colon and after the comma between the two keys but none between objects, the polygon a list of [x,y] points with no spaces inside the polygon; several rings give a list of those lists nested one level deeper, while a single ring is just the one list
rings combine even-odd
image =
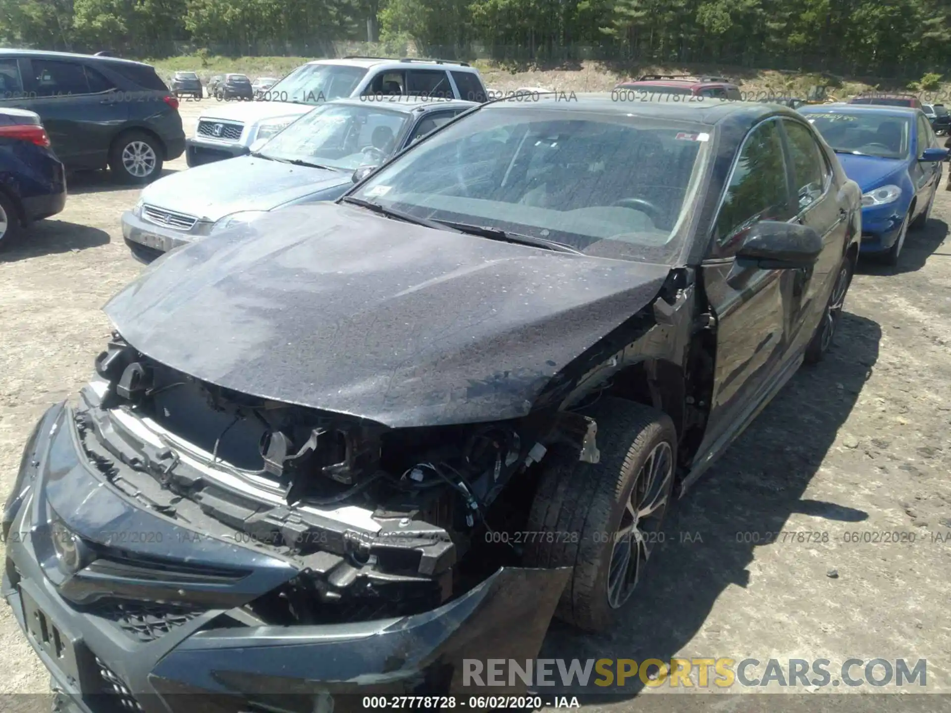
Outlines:
[{"label": "large dusty dark hood of the wrecked sedan in front", "polygon": [[441,425],[528,414],[669,271],[313,203],[168,253],[105,310],[136,349],[204,381]]}]

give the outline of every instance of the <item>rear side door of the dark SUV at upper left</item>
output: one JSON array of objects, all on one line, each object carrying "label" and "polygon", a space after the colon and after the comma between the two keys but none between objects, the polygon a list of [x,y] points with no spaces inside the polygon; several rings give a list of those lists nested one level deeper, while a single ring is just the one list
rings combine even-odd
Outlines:
[{"label": "rear side door of the dark SUV at upper left", "polygon": [[28,108],[43,119],[60,160],[70,168],[106,165],[111,137],[126,122],[129,97],[81,62],[31,57],[24,79],[33,97]]}]

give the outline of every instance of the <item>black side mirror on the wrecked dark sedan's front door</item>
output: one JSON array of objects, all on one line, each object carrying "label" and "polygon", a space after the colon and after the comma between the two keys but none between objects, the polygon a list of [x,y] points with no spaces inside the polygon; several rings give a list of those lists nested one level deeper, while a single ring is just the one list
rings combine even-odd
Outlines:
[{"label": "black side mirror on the wrecked dark sedan's front door", "polygon": [[823,239],[814,229],[792,222],[763,221],[753,225],[736,253],[737,262],[763,270],[812,267],[823,251]]}]

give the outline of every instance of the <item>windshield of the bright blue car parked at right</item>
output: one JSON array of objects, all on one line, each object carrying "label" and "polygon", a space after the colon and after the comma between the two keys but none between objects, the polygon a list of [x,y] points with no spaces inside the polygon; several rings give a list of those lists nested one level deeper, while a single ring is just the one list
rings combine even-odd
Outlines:
[{"label": "windshield of the bright blue car parked at right", "polygon": [[902,159],[908,155],[909,120],[889,114],[810,112],[809,124],[823,135],[825,143],[844,153]]}]

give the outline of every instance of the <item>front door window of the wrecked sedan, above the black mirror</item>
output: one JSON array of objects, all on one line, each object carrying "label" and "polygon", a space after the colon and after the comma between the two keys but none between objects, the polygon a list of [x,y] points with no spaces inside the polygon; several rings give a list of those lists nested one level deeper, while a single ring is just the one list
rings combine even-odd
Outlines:
[{"label": "front door window of the wrecked sedan, above the black mirror", "polygon": [[794,215],[789,205],[779,126],[767,121],[749,132],[740,149],[714,223],[714,240],[720,252],[728,256],[754,223],[788,221]]}]

